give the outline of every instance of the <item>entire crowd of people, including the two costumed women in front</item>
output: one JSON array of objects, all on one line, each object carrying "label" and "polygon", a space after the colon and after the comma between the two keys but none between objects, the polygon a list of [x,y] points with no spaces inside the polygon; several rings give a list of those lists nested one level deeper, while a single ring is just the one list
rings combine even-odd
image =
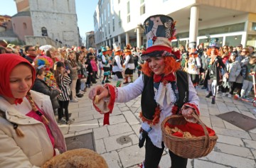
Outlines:
[{"label": "entire crowd of people, including the two costumed women in front", "polygon": [[[19,148],[26,148],[26,144],[19,140],[6,145],[6,151],[13,150],[9,155],[16,152],[27,165],[40,167],[58,152],[65,152],[63,135],[53,113],[58,114],[58,123],[73,123],[68,113],[69,103],[77,103],[97,81],[102,85],[90,89],[89,97],[97,111],[105,113],[104,124],[109,124],[114,102],[127,102],[142,94],[139,147],[146,142],[146,155],[141,167],[158,167],[164,151],[161,133],[164,118],[180,113],[194,123],[192,113],[200,115],[196,94],[199,85],[208,90],[206,97],[212,96],[213,104],[218,91],[228,97],[236,91],[238,98],[249,99],[251,74],[256,70],[254,47],[220,47],[217,38],[213,38],[208,46],[190,43],[186,47],[171,47],[175,22],[169,16],[151,16],[144,22],[144,28],[147,48],[128,44],[121,49],[119,43],[102,46],[97,51],[85,46],[21,47],[0,40],[0,75],[1,79],[6,79],[1,81],[0,87],[0,123],[9,121],[8,129],[1,127],[3,140],[14,139],[6,135],[24,137],[26,134],[26,138],[33,141],[36,132],[26,132],[26,124],[37,124],[35,131],[38,129],[38,133],[42,125],[46,128],[41,132],[45,139],[36,148],[39,155]],[[134,80],[136,71],[138,79]],[[108,84],[110,82],[116,82],[116,85]],[[125,86],[121,87],[122,84]],[[36,121],[31,122],[30,118]],[[43,145],[47,146],[47,154],[41,152]],[[186,167],[187,158],[170,150],[169,155],[172,167]],[[16,167],[11,162],[9,159],[5,164]]]}]

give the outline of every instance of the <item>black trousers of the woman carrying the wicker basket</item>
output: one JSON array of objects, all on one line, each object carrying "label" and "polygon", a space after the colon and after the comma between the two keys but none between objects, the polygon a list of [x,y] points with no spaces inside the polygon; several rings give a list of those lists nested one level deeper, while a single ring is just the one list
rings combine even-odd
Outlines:
[{"label": "black trousers of the woman carrying the wicker basket", "polygon": [[[162,148],[156,147],[151,142],[148,135],[146,135],[146,155],[145,155],[145,168],[157,168],[161,159],[161,155],[164,152],[164,142],[161,144]],[[179,157],[169,150],[171,157],[171,168],[186,168],[188,163],[187,158]],[[168,167],[168,166],[166,166]]]}]

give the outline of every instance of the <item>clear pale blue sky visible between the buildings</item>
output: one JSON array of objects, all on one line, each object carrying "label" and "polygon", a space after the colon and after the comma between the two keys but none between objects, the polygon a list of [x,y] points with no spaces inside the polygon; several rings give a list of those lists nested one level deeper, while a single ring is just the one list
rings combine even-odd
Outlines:
[{"label": "clear pale blue sky visible between the buildings", "polygon": [[[85,37],[85,33],[94,30],[93,14],[97,2],[98,0],[75,0],[78,27],[82,37]],[[14,16],[17,13],[14,0],[0,0],[0,4],[0,15]]]}]

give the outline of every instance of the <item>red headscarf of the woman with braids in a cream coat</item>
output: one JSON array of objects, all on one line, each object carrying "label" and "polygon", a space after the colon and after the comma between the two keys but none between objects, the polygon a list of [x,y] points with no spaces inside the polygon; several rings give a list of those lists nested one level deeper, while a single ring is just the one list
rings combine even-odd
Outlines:
[{"label": "red headscarf of the woman with braids in a cream coat", "polygon": [[[12,69],[17,65],[25,63],[27,64],[32,71],[32,85],[36,79],[36,71],[34,67],[26,60],[25,58],[14,55],[14,54],[0,54],[0,95],[7,96],[10,98],[14,98],[11,94],[10,88],[10,74]],[[21,103],[22,99],[16,99],[15,103]]]}]

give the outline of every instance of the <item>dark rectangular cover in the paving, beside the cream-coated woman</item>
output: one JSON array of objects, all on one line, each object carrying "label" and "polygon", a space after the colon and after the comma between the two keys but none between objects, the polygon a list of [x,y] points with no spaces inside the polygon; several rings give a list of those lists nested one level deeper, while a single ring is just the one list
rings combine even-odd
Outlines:
[{"label": "dark rectangular cover in the paving, beside the cream-coated woman", "polygon": [[95,151],[95,140],[92,133],[65,138],[65,142],[67,150],[86,148]]}]

